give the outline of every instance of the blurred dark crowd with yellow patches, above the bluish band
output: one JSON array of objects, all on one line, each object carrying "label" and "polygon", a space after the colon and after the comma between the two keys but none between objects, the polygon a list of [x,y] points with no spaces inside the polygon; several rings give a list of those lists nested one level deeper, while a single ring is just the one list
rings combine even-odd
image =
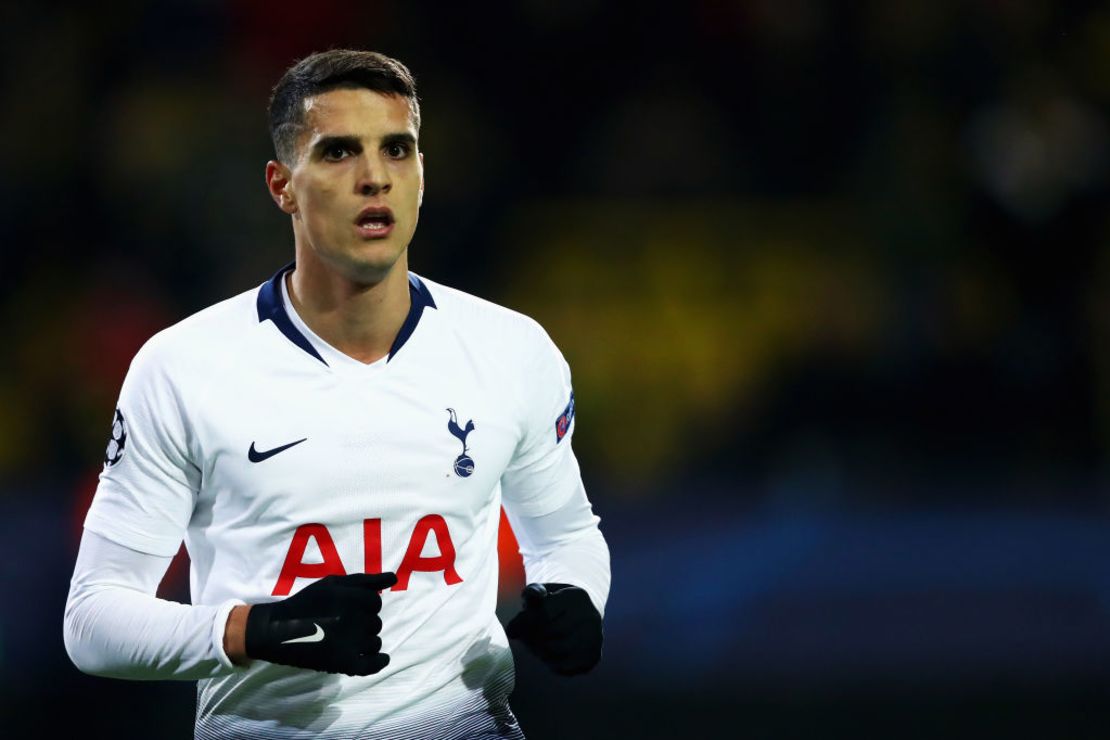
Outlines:
[{"label": "blurred dark crowd with yellow patches, above the bluish band", "polygon": [[1104,6],[0,12],[0,493],[70,496],[142,342],[291,259],[269,88],[347,44],[417,77],[413,268],[547,326],[603,497],[1099,495]]}]

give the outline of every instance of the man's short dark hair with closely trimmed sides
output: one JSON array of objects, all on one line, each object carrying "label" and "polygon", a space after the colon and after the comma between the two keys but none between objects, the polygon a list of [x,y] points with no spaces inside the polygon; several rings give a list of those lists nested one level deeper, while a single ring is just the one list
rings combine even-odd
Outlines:
[{"label": "man's short dark hair with closely trimmed sides", "polygon": [[285,70],[270,95],[270,136],[278,159],[292,164],[296,156],[296,140],[304,130],[305,98],[357,88],[406,98],[413,125],[420,131],[416,82],[407,67],[376,51],[317,51]]}]

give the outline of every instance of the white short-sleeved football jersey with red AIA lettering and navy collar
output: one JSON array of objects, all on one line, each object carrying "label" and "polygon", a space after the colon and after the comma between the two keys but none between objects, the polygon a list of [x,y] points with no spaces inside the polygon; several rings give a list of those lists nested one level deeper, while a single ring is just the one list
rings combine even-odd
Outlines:
[{"label": "white short-sleeved football jersey with red AIA lettering and navy collar", "polygon": [[500,507],[581,493],[569,369],[534,321],[413,274],[390,355],[359,363],[292,311],[292,267],[139,352],[85,527],[160,556],[184,539],[193,604],[397,574],[382,672],[228,663],[199,682],[199,738],[518,737]]}]

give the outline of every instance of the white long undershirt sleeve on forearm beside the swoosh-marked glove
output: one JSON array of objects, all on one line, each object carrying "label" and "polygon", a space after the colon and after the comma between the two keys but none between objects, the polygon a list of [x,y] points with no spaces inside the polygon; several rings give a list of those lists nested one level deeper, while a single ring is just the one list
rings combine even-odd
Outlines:
[{"label": "white long undershirt sleeve on forearm beside the swoosh-marked glove", "polygon": [[65,650],[87,673],[195,680],[236,668],[223,651],[228,614],[240,601],[189,606],[155,596],[172,558],[85,530],[65,601]]}]

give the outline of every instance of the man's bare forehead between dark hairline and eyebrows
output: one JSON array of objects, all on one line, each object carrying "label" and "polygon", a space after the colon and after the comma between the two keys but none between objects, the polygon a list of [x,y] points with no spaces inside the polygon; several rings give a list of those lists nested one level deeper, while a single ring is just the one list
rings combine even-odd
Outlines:
[{"label": "man's bare forehead between dark hairline and eyebrows", "polygon": [[408,132],[416,136],[408,99],[364,88],[329,90],[304,99],[302,143],[321,136],[380,138]]}]

